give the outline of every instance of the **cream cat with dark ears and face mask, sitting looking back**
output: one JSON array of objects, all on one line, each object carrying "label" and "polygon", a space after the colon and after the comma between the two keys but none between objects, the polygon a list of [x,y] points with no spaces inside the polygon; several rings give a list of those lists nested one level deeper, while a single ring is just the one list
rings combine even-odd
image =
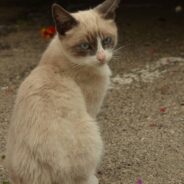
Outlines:
[{"label": "cream cat with dark ears and face mask, sitting looking back", "polygon": [[7,140],[12,184],[97,184],[103,141],[96,116],[118,41],[120,0],[69,13],[53,4],[57,30],[18,89]]}]

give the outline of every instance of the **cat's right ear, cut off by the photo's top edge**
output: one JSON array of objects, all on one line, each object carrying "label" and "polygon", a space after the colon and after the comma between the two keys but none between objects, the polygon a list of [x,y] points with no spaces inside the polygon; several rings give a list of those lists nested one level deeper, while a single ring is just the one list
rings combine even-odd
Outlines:
[{"label": "cat's right ear, cut off by the photo's top edge", "polygon": [[115,11],[119,6],[121,0],[105,0],[98,5],[95,10],[100,13],[105,19],[114,19]]}]

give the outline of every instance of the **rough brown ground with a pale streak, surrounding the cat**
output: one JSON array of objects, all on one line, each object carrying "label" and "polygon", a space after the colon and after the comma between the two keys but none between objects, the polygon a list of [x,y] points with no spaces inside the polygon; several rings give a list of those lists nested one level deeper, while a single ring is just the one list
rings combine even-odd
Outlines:
[{"label": "rough brown ground with a pale streak, surrounding the cat", "polygon": [[[8,16],[0,10],[1,156],[16,91],[49,42],[39,33],[41,13],[25,20],[11,8]],[[122,48],[98,116],[100,183],[184,184],[184,16],[174,8],[123,8],[117,22]],[[0,183],[7,180],[2,163]]]}]

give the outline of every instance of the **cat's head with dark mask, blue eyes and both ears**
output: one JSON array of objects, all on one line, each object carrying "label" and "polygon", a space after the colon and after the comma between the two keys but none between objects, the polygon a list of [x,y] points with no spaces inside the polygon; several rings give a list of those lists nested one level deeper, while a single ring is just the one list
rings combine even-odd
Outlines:
[{"label": "cat's head with dark mask, blue eyes and both ears", "polygon": [[52,13],[62,49],[71,62],[101,66],[112,59],[118,34],[115,10],[120,0],[106,0],[94,9],[69,13],[53,4]]}]

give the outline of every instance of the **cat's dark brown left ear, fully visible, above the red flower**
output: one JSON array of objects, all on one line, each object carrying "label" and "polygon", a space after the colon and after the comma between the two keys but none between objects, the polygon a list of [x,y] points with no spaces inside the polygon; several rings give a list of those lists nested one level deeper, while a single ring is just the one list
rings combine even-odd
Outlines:
[{"label": "cat's dark brown left ear, fully visible, above the red flower", "polygon": [[79,24],[68,11],[56,3],[52,5],[52,16],[55,21],[56,30],[60,35],[65,35],[67,31]]}]

